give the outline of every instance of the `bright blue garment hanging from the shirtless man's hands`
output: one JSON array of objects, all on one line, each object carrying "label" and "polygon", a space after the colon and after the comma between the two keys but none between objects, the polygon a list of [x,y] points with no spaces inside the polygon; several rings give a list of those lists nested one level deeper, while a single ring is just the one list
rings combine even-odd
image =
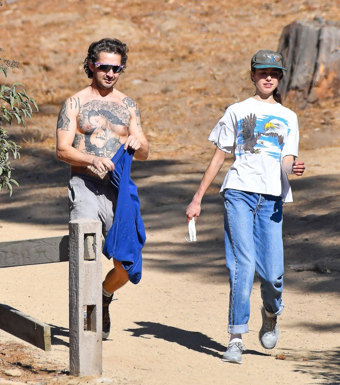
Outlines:
[{"label": "bright blue garment hanging from the shirtless man's hands", "polygon": [[137,186],[130,178],[134,151],[121,145],[114,154],[114,170],[108,175],[117,187],[117,205],[113,223],[105,238],[103,254],[122,263],[128,279],[136,284],[141,278],[141,249],[145,243],[145,229],[139,212]]}]

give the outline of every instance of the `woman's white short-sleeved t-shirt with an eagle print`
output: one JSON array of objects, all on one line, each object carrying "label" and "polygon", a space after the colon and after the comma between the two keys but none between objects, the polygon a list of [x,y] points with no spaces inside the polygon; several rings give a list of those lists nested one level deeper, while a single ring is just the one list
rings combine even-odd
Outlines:
[{"label": "woman's white short-sleeved t-shirt with an eagle print", "polygon": [[248,98],[229,106],[209,138],[220,150],[234,154],[220,193],[226,188],[281,196],[292,202],[284,156],[298,153],[298,123],[281,104]]}]

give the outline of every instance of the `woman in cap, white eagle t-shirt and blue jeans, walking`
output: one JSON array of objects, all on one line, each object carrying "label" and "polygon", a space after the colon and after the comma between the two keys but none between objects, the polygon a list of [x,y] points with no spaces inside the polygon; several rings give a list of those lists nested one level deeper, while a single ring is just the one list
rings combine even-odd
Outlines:
[{"label": "woman in cap, white eagle t-shirt and blue jeans, walking", "polygon": [[251,59],[255,94],[229,106],[209,135],[214,155],[186,209],[187,222],[200,213],[202,197],[223,165],[234,162],[220,194],[224,198],[224,242],[229,270],[230,341],[223,360],[242,362],[242,334],[248,331],[254,272],[260,280],[261,345],[272,349],[278,338],[276,318],[283,310],[282,204],[291,202],[286,174],[302,175],[296,114],[280,104],[277,85],[286,71],[281,55],[259,51]]}]

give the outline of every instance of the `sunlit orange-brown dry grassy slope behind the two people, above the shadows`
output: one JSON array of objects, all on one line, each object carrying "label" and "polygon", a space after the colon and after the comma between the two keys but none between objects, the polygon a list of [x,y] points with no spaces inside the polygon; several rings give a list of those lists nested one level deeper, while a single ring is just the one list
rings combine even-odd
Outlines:
[{"label": "sunlit orange-brown dry grassy slope behind the two people, above the shadows", "polygon": [[[67,7],[46,0],[4,5],[0,14],[5,55],[22,64],[7,82],[23,82],[42,107],[21,132],[23,145],[54,146],[62,101],[88,84],[81,62],[89,43],[114,36],[130,48],[118,88],[138,103],[152,159],[204,153],[206,136],[225,107],[252,93],[250,56],[275,50],[284,26],[340,17],[336,0],[107,1],[105,7],[97,0],[68,0]],[[336,130],[338,102],[305,110],[286,105],[298,114],[307,139],[315,130]],[[311,146],[308,140],[301,145]]]}]

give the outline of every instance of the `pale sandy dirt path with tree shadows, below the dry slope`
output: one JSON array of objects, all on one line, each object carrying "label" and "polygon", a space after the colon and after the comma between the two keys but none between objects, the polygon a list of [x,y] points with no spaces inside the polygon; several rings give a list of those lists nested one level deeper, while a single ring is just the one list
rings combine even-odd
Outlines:
[{"label": "pale sandy dirt path with tree shadows, below the dry slope", "polygon": [[[222,200],[217,195],[223,171],[203,200],[198,242],[188,244],[184,240],[185,207],[205,165],[169,161],[133,164],[147,233],[143,277],[138,285],[127,284],[121,289],[111,306],[112,332],[103,342],[103,377],[107,381],[135,385],[217,384],[225,378],[254,384],[266,378],[269,383],[285,385],[340,381],[340,177],[336,167],[326,168],[326,160],[315,160],[312,152],[302,152],[300,157],[308,172],[292,181],[295,203],[284,208],[285,310],[279,320],[279,342],[271,351],[258,343],[261,300],[255,280],[242,365],[220,360],[228,340],[228,277],[223,261]],[[67,179],[63,171],[63,166],[54,170],[55,183]],[[31,178],[34,180],[34,173]],[[1,215],[0,226],[6,231],[1,231],[0,241],[67,233],[67,215],[59,201],[65,202],[65,186],[60,182],[59,187],[49,189],[49,195],[41,195],[45,182],[39,181],[40,186],[36,180],[34,183],[35,187],[22,183],[11,200],[2,199],[1,214],[15,214],[9,220]],[[38,211],[27,195],[41,197]],[[40,216],[58,220],[54,225],[34,223]],[[332,269],[330,274],[295,272],[288,267],[310,265],[319,259]],[[103,273],[109,268],[110,262],[104,259]],[[51,370],[48,375],[39,373],[47,383],[79,382],[61,375],[62,370],[68,370],[67,277],[67,263],[0,270],[0,302],[51,325],[52,351],[42,352],[23,343],[29,354],[21,358],[24,364],[25,359],[34,357],[32,367]],[[19,342],[4,332],[0,339]],[[275,359],[277,354],[285,359]],[[28,379],[29,370],[27,374],[25,370],[21,367],[18,379]]]}]

